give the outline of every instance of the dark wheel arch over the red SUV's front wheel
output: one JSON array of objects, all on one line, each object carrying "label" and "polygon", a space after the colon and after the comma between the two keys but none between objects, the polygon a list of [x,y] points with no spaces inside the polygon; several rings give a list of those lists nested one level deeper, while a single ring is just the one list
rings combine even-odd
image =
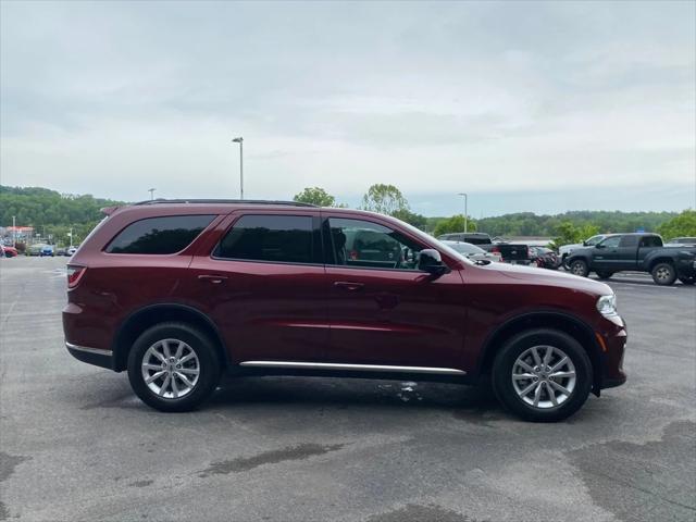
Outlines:
[{"label": "dark wheel arch over the red SUV's front wheel", "polygon": [[587,351],[593,366],[593,393],[599,395],[602,377],[601,348],[597,343],[594,330],[581,319],[564,312],[535,311],[515,315],[494,330],[484,341],[476,375],[488,375],[493,369],[493,361],[500,347],[513,335],[525,330],[537,327],[552,328],[563,332],[577,340]]}]

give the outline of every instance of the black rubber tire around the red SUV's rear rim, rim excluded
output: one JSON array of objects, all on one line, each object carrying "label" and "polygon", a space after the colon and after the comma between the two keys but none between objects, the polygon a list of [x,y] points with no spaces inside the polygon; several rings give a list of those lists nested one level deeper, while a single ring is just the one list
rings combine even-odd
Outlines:
[{"label": "black rubber tire around the red SUV's rear rim, rim excluded", "polygon": [[[163,339],[175,339],[185,343],[188,346],[187,353],[188,349],[190,349],[198,358],[198,381],[195,382],[195,385],[186,395],[179,398],[165,398],[158,395],[146,384],[142,375],[146,352],[150,347]],[[220,357],[213,341],[206,334],[186,323],[160,323],[146,330],[136,339],[128,353],[130,387],[142,402],[156,410],[165,412],[190,411],[198,408],[215,390],[220,382],[221,368]],[[183,384],[183,381],[175,377],[172,378]],[[158,381],[154,382],[156,386]],[[163,385],[161,387],[166,388],[163,380],[160,384]]]}]

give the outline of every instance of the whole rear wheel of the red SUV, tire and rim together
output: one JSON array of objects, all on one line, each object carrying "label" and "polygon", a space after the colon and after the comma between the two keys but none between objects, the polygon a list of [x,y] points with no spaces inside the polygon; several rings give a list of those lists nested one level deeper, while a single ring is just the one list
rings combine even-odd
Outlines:
[{"label": "whole rear wheel of the red SUV, tire and rim together", "polygon": [[160,411],[197,408],[217,386],[220,373],[220,358],[212,341],[186,323],[148,328],[128,355],[133,390]]}]

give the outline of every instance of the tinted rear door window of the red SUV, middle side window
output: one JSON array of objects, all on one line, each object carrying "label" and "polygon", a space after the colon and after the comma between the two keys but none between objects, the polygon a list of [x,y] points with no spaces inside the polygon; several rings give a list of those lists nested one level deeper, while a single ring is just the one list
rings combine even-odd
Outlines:
[{"label": "tinted rear door window of the red SUV, middle side window", "polygon": [[319,235],[309,215],[243,215],[215,248],[214,258],[314,264]]}]

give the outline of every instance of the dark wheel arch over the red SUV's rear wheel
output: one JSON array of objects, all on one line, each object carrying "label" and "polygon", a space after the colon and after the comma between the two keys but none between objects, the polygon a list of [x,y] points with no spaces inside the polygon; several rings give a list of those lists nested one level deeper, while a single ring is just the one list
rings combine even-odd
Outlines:
[{"label": "dark wheel arch over the red SUV's rear wheel", "polygon": [[128,352],[138,336],[158,323],[177,321],[194,325],[208,334],[215,343],[224,366],[229,365],[229,356],[225,341],[215,323],[200,310],[181,303],[158,303],[132,312],[119,326],[113,340],[113,365],[116,372],[127,368]]}]

